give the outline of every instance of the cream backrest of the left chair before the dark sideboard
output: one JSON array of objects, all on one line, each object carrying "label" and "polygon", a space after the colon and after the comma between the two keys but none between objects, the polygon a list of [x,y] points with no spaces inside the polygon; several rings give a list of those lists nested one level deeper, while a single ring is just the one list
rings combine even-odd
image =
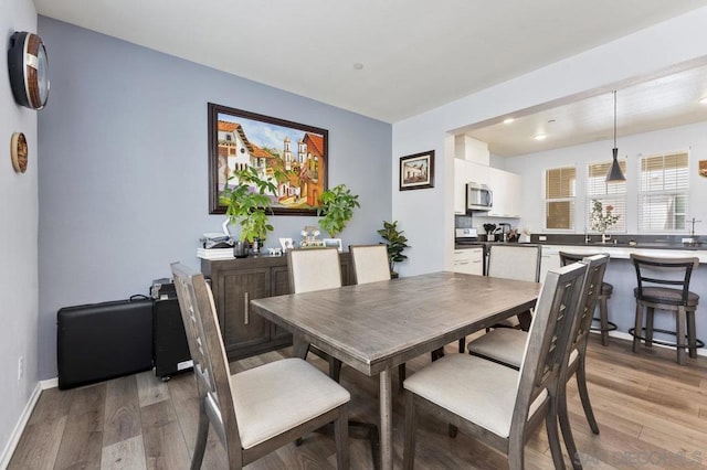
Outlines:
[{"label": "cream backrest of the left chair before the dark sideboard", "polygon": [[337,248],[302,248],[287,252],[289,291],[293,293],[341,287]]}]

